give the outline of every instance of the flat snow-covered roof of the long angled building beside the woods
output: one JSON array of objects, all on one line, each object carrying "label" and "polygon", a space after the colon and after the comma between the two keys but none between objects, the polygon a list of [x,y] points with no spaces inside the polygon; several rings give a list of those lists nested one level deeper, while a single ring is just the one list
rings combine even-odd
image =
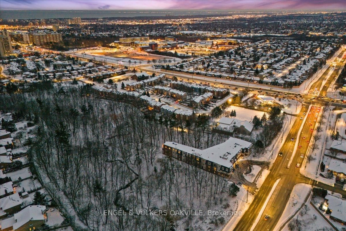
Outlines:
[{"label": "flat snow-covered roof of the long angled building beside the woods", "polygon": [[224,143],[212,146],[204,150],[192,148],[190,146],[178,144],[175,142],[165,142],[164,145],[179,149],[189,154],[194,154],[195,156],[199,156],[205,160],[212,161],[219,165],[230,167],[232,165],[231,160],[235,156],[237,156],[237,154],[242,149],[250,148],[252,143],[230,137]]}]

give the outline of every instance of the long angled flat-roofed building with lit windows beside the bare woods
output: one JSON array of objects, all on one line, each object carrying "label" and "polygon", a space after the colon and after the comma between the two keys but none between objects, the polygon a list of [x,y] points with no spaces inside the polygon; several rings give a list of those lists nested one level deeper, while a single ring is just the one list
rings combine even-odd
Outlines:
[{"label": "long angled flat-roofed building with lit windows beside the bare woods", "polygon": [[241,156],[251,153],[252,143],[230,137],[224,143],[201,150],[175,142],[165,142],[162,153],[221,177],[228,178]]}]

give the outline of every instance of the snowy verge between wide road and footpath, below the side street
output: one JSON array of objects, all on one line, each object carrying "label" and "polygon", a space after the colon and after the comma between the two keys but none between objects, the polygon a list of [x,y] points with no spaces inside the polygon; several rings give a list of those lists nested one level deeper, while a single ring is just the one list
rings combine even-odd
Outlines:
[{"label": "snowy verge between wide road and footpath, below the side street", "polygon": [[[290,195],[290,199],[286,204],[285,210],[283,211],[280,220],[277,222],[274,230],[279,230],[280,227],[295,213],[299,210],[303,204],[305,198],[309,194],[311,186],[308,184],[297,184],[293,187]],[[307,202],[308,203],[308,202]]]}]

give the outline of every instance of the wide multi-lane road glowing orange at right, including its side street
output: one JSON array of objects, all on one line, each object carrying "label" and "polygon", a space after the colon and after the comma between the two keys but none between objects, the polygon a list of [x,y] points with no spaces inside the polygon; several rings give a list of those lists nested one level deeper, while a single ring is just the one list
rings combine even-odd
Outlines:
[{"label": "wide multi-lane road glowing orange at right, including its side street", "polygon": [[[340,53],[340,55],[337,58],[341,58],[342,53]],[[332,82],[332,78],[335,78],[334,76],[336,75],[339,68],[342,66],[344,60],[345,56],[342,57],[342,59],[340,59],[339,62],[337,62],[336,68],[333,70],[333,73],[330,75],[330,78],[328,80],[329,84],[330,82]],[[311,85],[310,91],[315,90],[315,88],[320,89],[320,87],[322,86],[322,82],[328,76],[329,71],[330,69],[328,68],[319,77],[319,79]],[[322,90],[319,92],[319,95],[325,94],[327,89],[327,87],[322,88]],[[294,185],[298,183],[310,183],[311,185],[317,185],[319,187],[323,187],[333,192],[338,192],[343,196],[346,196],[346,192],[341,190],[340,188],[318,183],[315,180],[302,176],[299,173],[299,168],[302,167],[303,160],[306,157],[306,153],[308,153],[313,129],[315,128],[317,123],[318,118],[316,116],[322,113],[321,106],[326,104],[326,101],[324,99],[314,99],[310,102],[311,103],[309,104],[305,104],[305,107],[302,107],[302,110],[297,115],[297,119],[294,121],[289,135],[287,136],[282,148],[280,149],[280,152],[283,152],[283,155],[281,157],[278,156],[276,158],[275,162],[272,165],[270,174],[265,179],[262,187],[260,188],[260,190],[258,190],[258,193],[255,195],[253,202],[251,203],[247,211],[244,213],[244,215],[241,217],[234,230],[251,230],[253,223],[256,220],[257,215],[260,213],[261,208],[263,206],[265,206],[264,211],[260,217],[260,220],[255,225],[253,230],[274,230],[277,222],[279,221],[285,209],[286,204],[289,201],[290,194],[292,192]],[[309,109],[308,105],[310,104],[313,105]],[[303,119],[300,119],[300,117],[303,117]],[[306,119],[303,123],[304,117],[306,117]],[[300,134],[298,134],[301,126],[303,127],[301,129]],[[294,141],[291,141],[291,138],[294,138]],[[292,157],[295,142],[298,142],[298,148],[294,156]],[[301,157],[301,154],[303,154],[303,157]],[[293,158],[292,163],[288,167],[289,160],[291,157]],[[297,164],[299,164],[299,167],[297,167]],[[272,194],[268,203],[264,205],[266,198],[269,195],[275,181],[279,178],[281,178],[279,184],[276,186],[274,193]],[[264,220],[266,214],[270,216],[270,218],[267,221]]]}]

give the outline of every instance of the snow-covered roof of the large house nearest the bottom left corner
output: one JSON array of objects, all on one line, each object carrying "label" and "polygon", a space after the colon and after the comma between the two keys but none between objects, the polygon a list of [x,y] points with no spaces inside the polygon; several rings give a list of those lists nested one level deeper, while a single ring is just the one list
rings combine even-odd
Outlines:
[{"label": "snow-covered roof of the large house nearest the bottom left corner", "polygon": [[29,205],[23,210],[15,214],[16,223],[13,224],[13,229],[17,230],[28,221],[44,220],[43,211],[46,210],[44,205]]}]

